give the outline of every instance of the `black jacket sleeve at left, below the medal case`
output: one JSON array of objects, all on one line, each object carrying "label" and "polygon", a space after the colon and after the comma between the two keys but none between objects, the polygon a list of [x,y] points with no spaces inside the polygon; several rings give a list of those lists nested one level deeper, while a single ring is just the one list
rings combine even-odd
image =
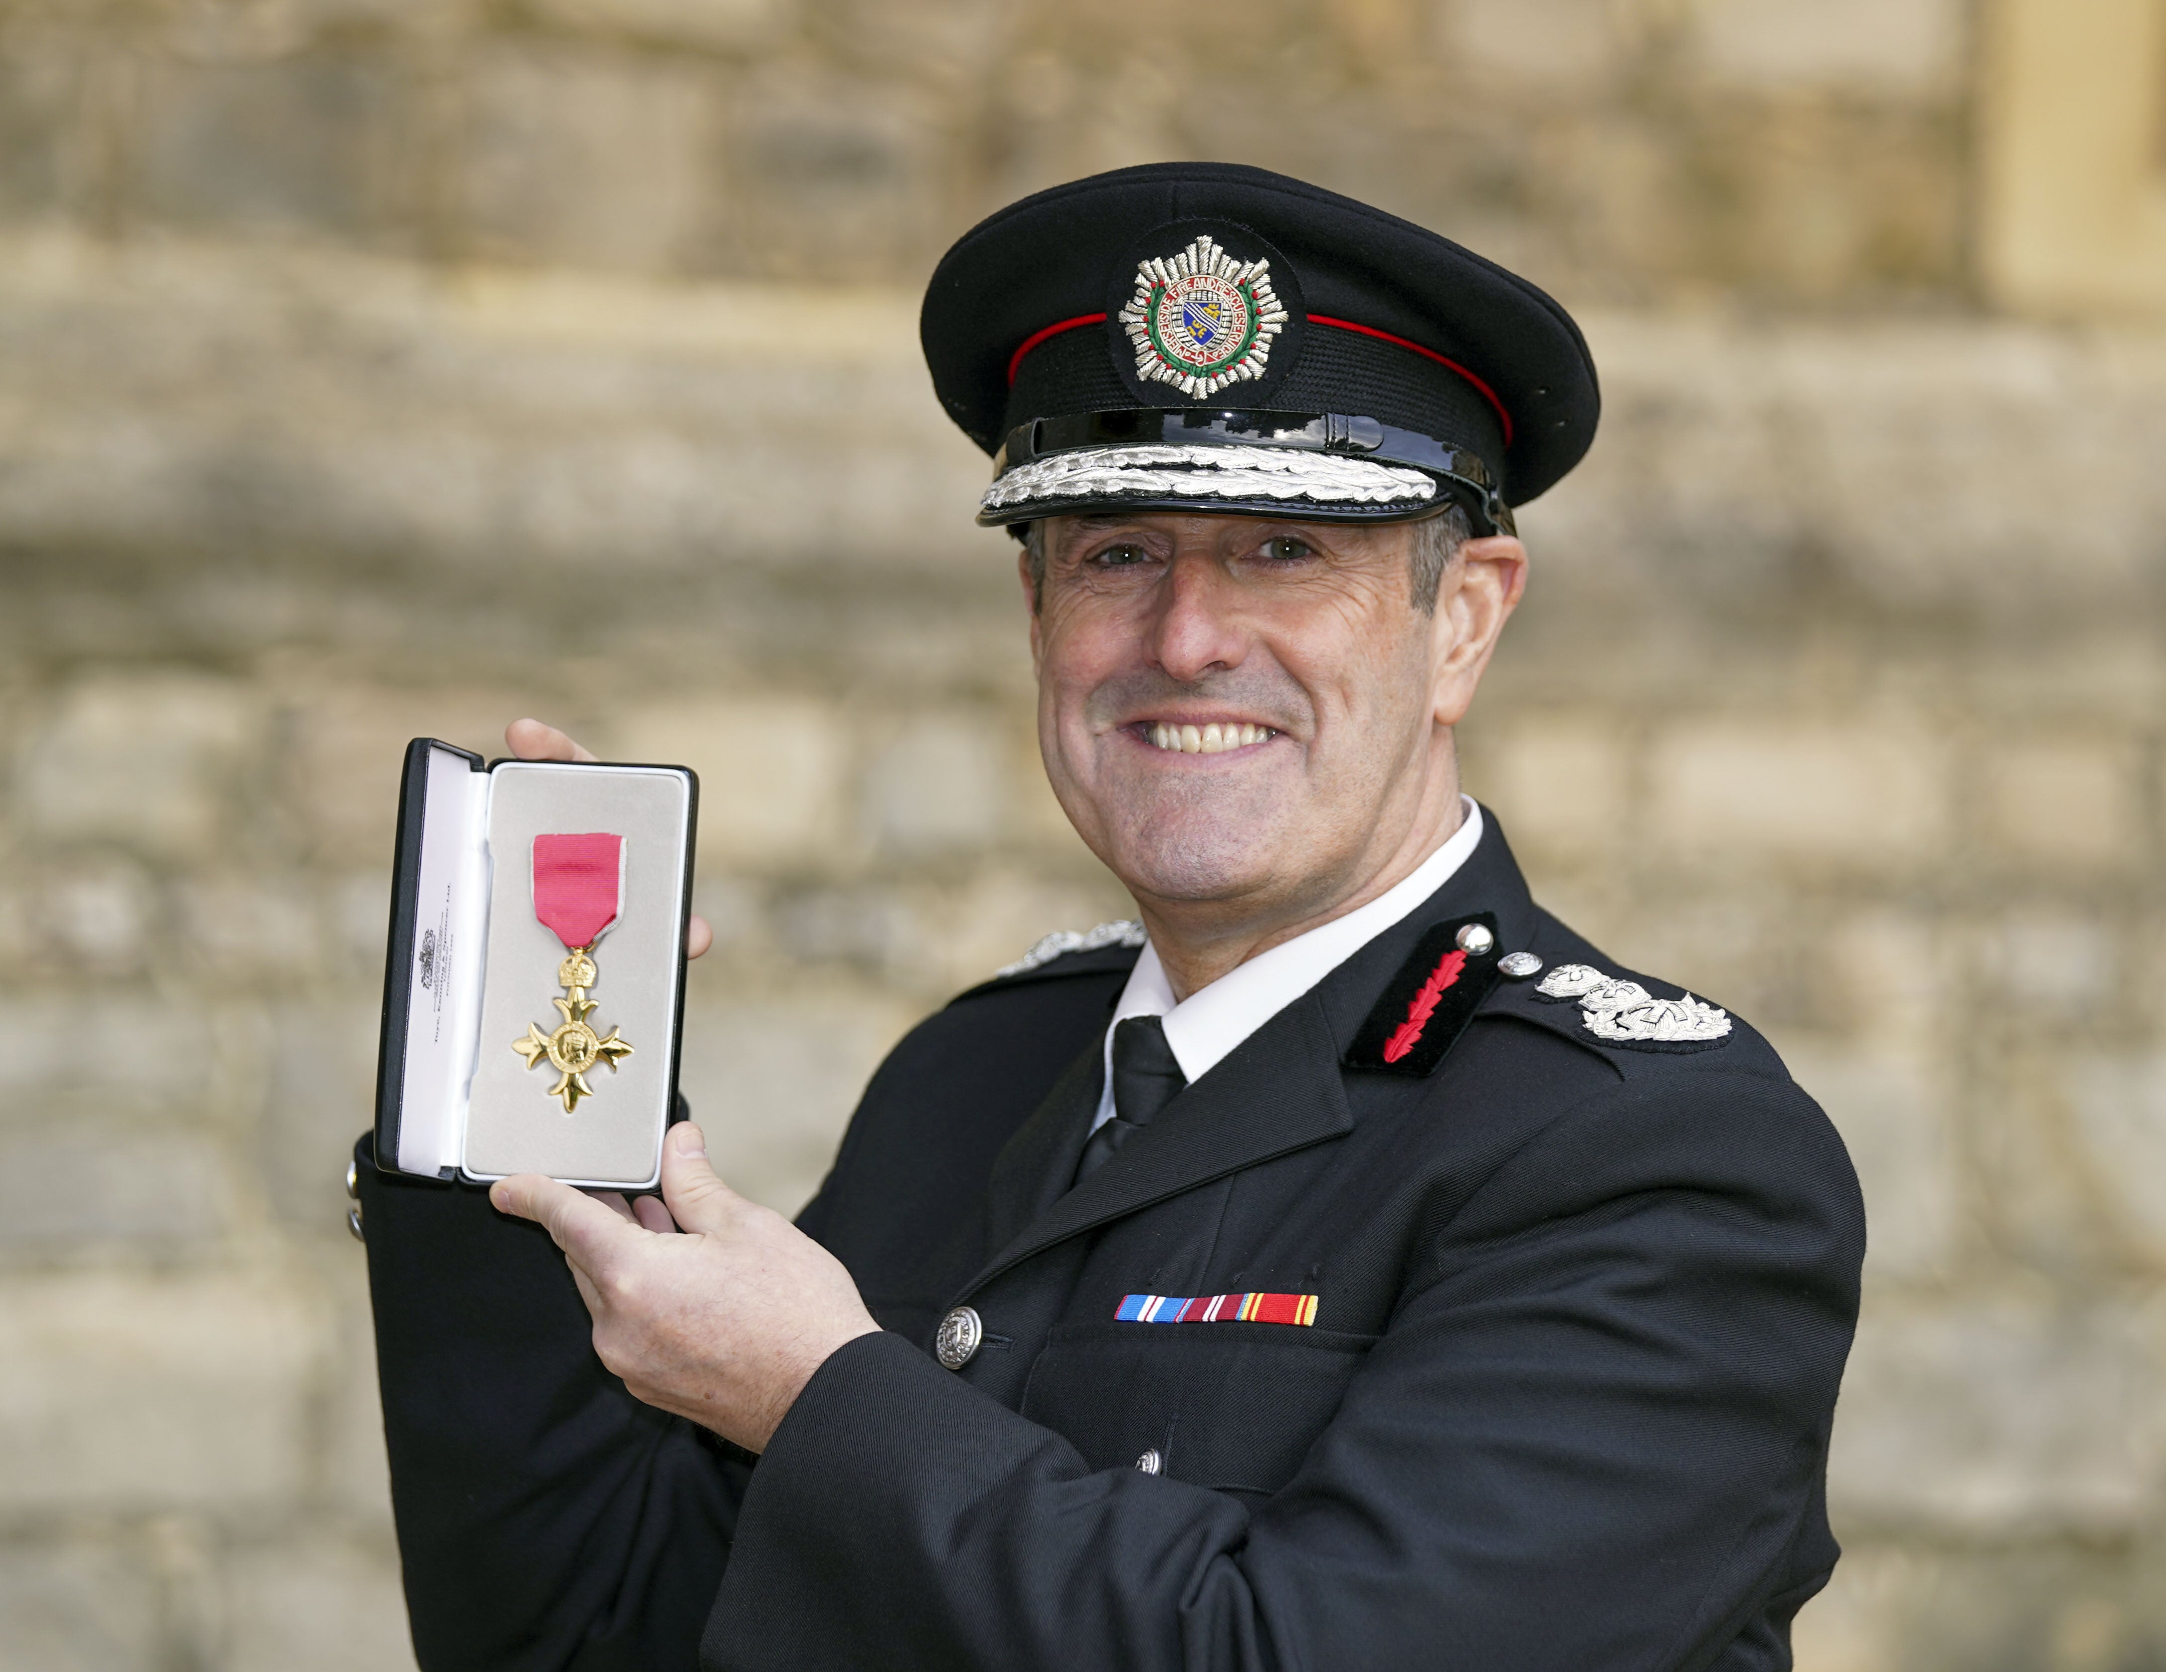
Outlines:
[{"label": "black jacket sleeve at left, below the medal case", "polygon": [[548,1235],[357,1150],[425,1672],[691,1672],[749,1471],[593,1354]]}]

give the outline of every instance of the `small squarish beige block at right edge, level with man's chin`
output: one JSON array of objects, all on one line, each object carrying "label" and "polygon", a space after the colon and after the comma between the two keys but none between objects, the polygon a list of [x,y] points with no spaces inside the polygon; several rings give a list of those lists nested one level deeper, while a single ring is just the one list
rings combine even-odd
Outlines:
[{"label": "small squarish beige block at right edge, level with man's chin", "polygon": [[2047,875],[2125,864],[2140,849],[2140,762],[2114,743],[2062,739],[1993,749],[1982,793],[1993,840]]}]

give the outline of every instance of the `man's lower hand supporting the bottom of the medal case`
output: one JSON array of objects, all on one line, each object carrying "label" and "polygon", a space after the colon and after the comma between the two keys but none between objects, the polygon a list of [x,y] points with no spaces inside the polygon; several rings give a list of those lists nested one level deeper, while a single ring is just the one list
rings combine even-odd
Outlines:
[{"label": "man's lower hand supporting the bottom of the medal case", "polygon": [[490,1200],[557,1239],[593,1349],[635,1399],[747,1451],[767,1449],[827,1354],[879,1330],[834,1254],[715,1176],[691,1122],[663,1141],[667,1211],[537,1174],[496,1180]]}]

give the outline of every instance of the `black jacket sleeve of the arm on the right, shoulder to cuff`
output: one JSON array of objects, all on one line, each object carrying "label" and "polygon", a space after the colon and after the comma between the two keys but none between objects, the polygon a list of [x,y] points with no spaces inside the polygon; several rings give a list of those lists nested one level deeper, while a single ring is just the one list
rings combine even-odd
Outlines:
[{"label": "black jacket sleeve of the arm on the right, shoulder to cuff", "polygon": [[[1568,1111],[1421,1243],[1271,1499],[1092,1473],[899,1336],[752,1481],[710,1668],[1696,1668],[1817,1590],[1863,1211],[1793,1085]],[[1822,1549],[1804,1549],[1822,1538]]]}]

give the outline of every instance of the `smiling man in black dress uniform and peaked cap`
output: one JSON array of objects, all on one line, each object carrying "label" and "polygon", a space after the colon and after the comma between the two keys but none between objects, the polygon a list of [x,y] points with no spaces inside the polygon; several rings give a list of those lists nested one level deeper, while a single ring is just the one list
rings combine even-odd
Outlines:
[{"label": "smiling man in black dress uniform and peaked cap", "polygon": [[910,1033],[797,1226],[689,1122],[632,1204],[364,1144],[422,1666],[1789,1666],[1841,1141],[1536,907],[1458,784],[1508,507],[1592,440],[1579,331],[1362,204],[1165,165],[973,230],[923,336],[1141,923]]}]

